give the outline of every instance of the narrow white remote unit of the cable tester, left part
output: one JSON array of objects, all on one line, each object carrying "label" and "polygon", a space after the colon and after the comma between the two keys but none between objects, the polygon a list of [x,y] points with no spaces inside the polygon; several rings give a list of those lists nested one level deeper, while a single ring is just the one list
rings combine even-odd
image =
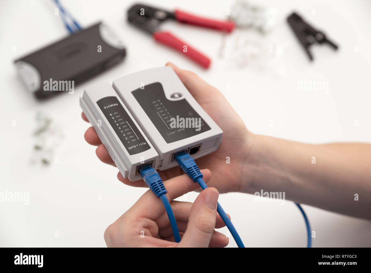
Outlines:
[{"label": "narrow white remote unit of the cable tester, left part", "polygon": [[144,165],[157,169],[157,152],[109,83],[86,88],[80,106],[124,178],[142,179]]}]

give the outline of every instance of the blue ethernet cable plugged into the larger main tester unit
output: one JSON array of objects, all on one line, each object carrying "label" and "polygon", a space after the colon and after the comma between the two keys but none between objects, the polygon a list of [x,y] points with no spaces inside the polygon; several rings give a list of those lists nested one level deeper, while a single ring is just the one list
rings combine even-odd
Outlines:
[{"label": "blue ethernet cable plugged into the larger main tester unit", "polygon": [[[188,176],[193,180],[193,182],[197,182],[203,190],[207,188],[206,183],[202,179],[203,175],[201,174],[200,169],[198,169],[196,162],[194,162],[194,159],[191,158],[191,156],[187,152],[183,151],[176,154],[175,160],[178,162],[183,171],[188,174]],[[230,233],[232,234],[234,240],[237,243],[237,246],[244,247],[236,228],[234,228],[231,220],[228,218],[226,212],[223,210],[219,202],[217,205],[217,212],[219,213],[221,219],[224,221]]]}]

